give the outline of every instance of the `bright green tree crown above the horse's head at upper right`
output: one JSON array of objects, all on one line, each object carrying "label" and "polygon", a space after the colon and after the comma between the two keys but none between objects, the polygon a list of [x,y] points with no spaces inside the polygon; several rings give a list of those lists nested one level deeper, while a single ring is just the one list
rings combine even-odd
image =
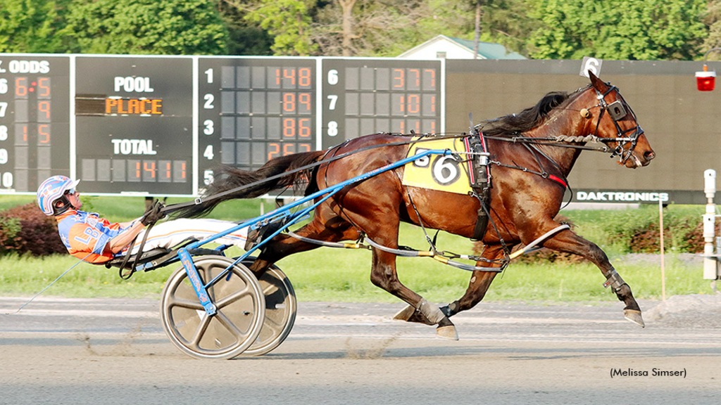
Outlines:
[{"label": "bright green tree crown above the horse's head at upper right", "polygon": [[539,59],[690,60],[706,30],[704,0],[535,0],[543,25],[528,38]]}]

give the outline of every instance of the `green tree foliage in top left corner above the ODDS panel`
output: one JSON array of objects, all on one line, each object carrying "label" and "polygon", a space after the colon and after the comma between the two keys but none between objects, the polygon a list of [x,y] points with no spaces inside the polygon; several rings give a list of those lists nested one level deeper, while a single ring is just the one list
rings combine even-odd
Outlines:
[{"label": "green tree foliage in top left corner above the ODDS panel", "polygon": [[70,0],[0,0],[0,52],[61,53],[70,48]]}]

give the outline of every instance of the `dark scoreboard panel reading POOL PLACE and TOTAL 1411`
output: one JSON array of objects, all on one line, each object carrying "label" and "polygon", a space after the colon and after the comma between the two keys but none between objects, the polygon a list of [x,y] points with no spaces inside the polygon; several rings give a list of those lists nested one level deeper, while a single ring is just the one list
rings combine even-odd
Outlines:
[{"label": "dark scoreboard panel reading POOL PLACE and TOTAL 1411", "polygon": [[81,190],[193,195],[193,61],[79,56],[76,72]]}]

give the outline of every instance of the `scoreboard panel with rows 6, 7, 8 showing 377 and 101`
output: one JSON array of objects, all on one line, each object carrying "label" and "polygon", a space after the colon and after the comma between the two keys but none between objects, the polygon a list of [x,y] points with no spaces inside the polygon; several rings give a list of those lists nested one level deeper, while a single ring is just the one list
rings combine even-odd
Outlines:
[{"label": "scoreboard panel with rows 6, 7, 8 showing 377 and 101", "polygon": [[323,61],[323,146],[372,133],[441,133],[441,61]]}]

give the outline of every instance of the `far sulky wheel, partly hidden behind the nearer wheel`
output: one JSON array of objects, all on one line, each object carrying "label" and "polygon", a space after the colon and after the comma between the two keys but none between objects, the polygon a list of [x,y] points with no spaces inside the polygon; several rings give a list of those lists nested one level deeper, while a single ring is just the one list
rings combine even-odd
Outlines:
[{"label": "far sulky wheel, partly hidden behind the nearer wheel", "polygon": [[[242,263],[249,267],[255,257]],[[260,356],[278,347],[293,329],[296,321],[296,292],[291,280],[278,267],[270,267],[260,277],[260,287],[265,295],[265,320],[255,343],[243,355]]]}]

